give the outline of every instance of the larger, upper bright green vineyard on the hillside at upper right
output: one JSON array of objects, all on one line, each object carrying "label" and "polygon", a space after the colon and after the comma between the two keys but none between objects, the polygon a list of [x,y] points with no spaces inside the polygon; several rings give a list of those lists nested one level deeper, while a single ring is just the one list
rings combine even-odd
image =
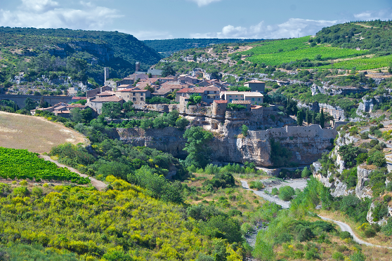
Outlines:
[{"label": "larger, upper bright green vineyard on the hillside at upper right", "polygon": [[[253,50],[253,49],[251,49]],[[282,51],[280,53],[266,53],[261,55],[254,55],[247,60],[256,62],[258,64],[265,63],[266,65],[281,65],[282,63],[295,62],[308,58],[309,60],[329,60],[338,58],[350,58],[358,55],[364,55],[367,51],[357,51],[355,49],[337,48],[328,46],[315,46],[293,51]],[[321,55],[321,56],[320,56]],[[316,58],[316,56],[318,56]]]}]

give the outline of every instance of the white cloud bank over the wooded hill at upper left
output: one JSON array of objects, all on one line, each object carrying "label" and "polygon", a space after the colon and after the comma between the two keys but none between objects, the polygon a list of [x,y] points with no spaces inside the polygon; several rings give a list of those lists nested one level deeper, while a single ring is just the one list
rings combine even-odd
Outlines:
[{"label": "white cloud bank over the wooded hill at upper left", "polygon": [[62,8],[51,0],[22,0],[18,10],[0,9],[0,25],[10,27],[103,29],[115,18],[115,9],[86,3],[81,8]]}]

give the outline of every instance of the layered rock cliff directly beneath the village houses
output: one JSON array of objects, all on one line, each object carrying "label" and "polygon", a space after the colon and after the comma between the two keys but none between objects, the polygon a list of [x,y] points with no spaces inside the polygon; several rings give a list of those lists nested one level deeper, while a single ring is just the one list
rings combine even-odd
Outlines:
[{"label": "layered rock cliff directly beneath the village houses", "polygon": [[[226,123],[225,123],[226,124]],[[243,163],[251,161],[258,166],[272,166],[270,161],[270,139],[278,140],[283,147],[292,151],[290,161],[299,164],[310,164],[320,158],[322,152],[330,147],[331,139],[337,134],[335,129],[322,129],[318,125],[307,127],[273,128],[267,131],[249,131],[247,137],[237,138],[239,128],[221,126],[221,132],[216,132],[210,142],[213,161]],[[223,131],[226,128],[226,131]],[[133,146],[146,146],[168,152],[179,158],[185,158],[186,140],[183,131],[177,128],[163,129],[117,128],[111,133],[112,138],[118,138]]]}]

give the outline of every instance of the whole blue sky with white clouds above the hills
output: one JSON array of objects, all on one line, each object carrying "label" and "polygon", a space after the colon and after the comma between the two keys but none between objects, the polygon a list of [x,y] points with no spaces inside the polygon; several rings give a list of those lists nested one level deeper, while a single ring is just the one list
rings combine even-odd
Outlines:
[{"label": "whole blue sky with white clouds above the hills", "polygon": [[0,0],[0,26],[118,31],[140,40],[279,39],[392,20],[391,0]]}]

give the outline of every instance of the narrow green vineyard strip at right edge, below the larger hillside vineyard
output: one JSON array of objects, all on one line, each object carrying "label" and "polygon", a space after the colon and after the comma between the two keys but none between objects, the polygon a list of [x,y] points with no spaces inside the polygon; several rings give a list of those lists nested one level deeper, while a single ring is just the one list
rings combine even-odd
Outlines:
[{"label": "narrow green vineyard strip at right edge, below the larger hillside vineyard", "polygon": [[[377,69],[381,67],[391,66],[392,55],[386,55],[376,58],[359,58],[353,60],[346,60],[334,63],[334,68],[336,69],[352,69],[355,67],[359,70],[364,69]],[[325,65],[318,68],[331,68],[331,65]]]}]

